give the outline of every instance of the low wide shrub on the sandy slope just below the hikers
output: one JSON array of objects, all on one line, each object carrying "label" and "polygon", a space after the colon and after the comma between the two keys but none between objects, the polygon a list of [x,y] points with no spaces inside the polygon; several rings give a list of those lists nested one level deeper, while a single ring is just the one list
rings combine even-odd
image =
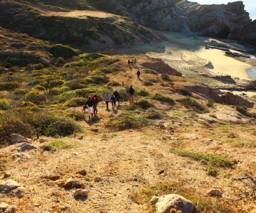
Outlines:
[{"label": "low wide shrub on the sandy slope just below the hikers", "polygon": [[151,124],[146,118],[137,115],[119,115],[111,121],[109,127],[117,130],[140,129]]}]

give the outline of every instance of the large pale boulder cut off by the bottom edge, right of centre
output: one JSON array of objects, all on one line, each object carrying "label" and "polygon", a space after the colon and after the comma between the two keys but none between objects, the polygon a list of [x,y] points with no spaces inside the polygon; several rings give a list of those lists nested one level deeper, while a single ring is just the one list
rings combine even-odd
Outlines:
[{"label": "large pale boulder cut off by the bottom edge, right of centre", "polygon": [[157,207],[157,213],[169,213],[172,208],[180,210],[182,213],[195,212],[195,207],[191,201],[176,194],[161,197],[154,196],[150,203]]}]

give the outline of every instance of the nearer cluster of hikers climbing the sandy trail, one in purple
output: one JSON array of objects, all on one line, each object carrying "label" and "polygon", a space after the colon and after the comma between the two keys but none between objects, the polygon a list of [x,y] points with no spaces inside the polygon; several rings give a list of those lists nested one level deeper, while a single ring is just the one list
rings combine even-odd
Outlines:
[{"label": "nearer cluster of hikers climbing the sandy trail, one in purple", "polygon": [[[128,95],[129,95],[129,103],[133,103],[134,89],[132,88],[132,86],[130,86]],[[107,107],[106,109],[108,109],[108,104],[109,102],[111,102],[112,109],[114,110],[115,107],[117,107],[116,101],[118,101],[118,104],[120,104],[120,95],[116,90],[113,91],[113,94],[111,96],[108,94],[108,92],[106,92],[106,94],[104,95],[104,101],[106,103],[106,107]],[[89,119],[91,115],[93,114],[96,115],[98,113],[98,109],[97,109],[98,104],[99,104],[99,98],[97,97],[97,95],[93,95],[93,98],[89,96],[88,100],[85,102],[83,111],[85,111],[85,109],[88,109]]]}]

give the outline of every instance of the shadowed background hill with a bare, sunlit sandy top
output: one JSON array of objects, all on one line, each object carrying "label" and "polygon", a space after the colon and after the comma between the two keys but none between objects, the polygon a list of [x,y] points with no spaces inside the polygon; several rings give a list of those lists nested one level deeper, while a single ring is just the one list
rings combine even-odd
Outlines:
[{"label": "shadowed background hill with a bare, sunlit sandy top", "polygon": [[99,11],[52,10],[6,0],[0,2],[0,26],[73,46],[128,46],[163,38],[128,17]]}]

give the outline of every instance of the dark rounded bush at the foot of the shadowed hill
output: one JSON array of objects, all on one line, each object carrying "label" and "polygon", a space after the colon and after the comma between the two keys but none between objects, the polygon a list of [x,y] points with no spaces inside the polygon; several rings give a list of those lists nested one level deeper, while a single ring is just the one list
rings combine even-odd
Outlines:
[{"label": "dark rounded bush at the foot of the shadowed hill", "polygon": [[72,58],[73,56],[79,55],[79,50],[73,49],[70,46],[62,44],[55,44],[51,47],[50,53],[55,57]]}]

